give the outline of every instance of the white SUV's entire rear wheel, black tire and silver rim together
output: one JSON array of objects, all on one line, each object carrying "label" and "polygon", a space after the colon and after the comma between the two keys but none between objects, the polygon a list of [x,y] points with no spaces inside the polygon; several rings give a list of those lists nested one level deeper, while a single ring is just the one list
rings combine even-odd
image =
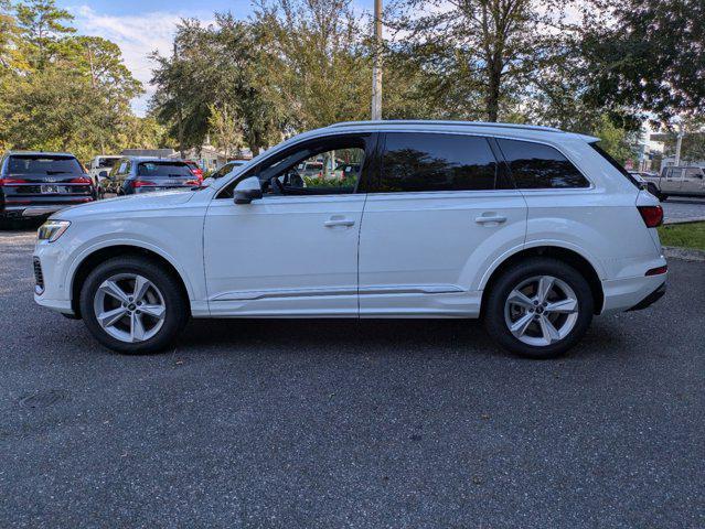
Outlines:
[{"label": "white SUV's entire rear wheel, black tire and silver rim together", "polygon": [[484,323],[504,348],[530,358],[567,352],[592,320],[586,279],[549,258],[531,258],[505,270],[487,299]]}]

